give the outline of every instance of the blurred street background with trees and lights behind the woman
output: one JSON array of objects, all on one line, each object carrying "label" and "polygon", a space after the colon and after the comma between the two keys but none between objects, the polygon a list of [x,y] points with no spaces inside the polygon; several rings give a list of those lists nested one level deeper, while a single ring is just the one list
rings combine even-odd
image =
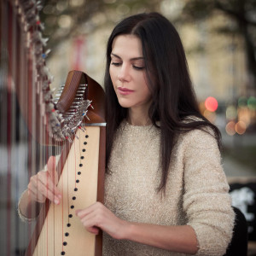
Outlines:
[{"label": "blurred street background with trees and lights behind the woman", "polygon": [[[252,241],[249,255],[256,255],[256,1],[44,0],[40,4],[40,23],[50,49],[46,66],[54,76],[50,87],[55,91],[65,84],[67,73],[73,69],[103,84],[108,36],[125,16],[157,11],[172,21],[183,41],[201,113],[222,133],[223,166],[230,195],[233,205],[247,218]],[[0,210],[4,220],[8,193],[4,159],[8,151],[2,144],[0,150]],[[26,158],[27,152],[21,152],[24,156],[16,160],[16,165]],[[19,179],[19,189],[13,197],[15,224],[9,233],[15,234],[16,242],[7,243],[1,237],[2,255],[22,255],[27,245],[28,237],[22,236],[26,224],[20,224],[15,212],[27,178],[25,174]],[[17,226],[20,228],[15,233]],[[3,224],[1,234],[6,229]]]}]

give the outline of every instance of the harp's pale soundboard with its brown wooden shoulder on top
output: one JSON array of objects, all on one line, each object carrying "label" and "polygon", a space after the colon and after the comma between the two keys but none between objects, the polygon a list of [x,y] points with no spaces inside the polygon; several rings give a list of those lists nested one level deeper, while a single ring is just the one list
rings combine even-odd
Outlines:
[{"label": "harp's pale soundboard with its brown wooden shoulder on top", "polygon": [[[87,104],[84,109],[79,109],[83,108],[81,102]],[[87,109],[90,102],[94,109]],[[61,142],[62,152],[57,166],[61,203],[45,202],[26,255],[102,255],[102,234],[95,236],[86,231],[75,211],[96,201],[103,202],[104,92],[85,73],[72,71],[67,75],[56,108],[67,123],[62,124],[66,142]],[[82,120],[76,119],[78,114],[84,116]],[[78,131],[75,131],[76,127]],[[60,137],[58,132],[53,132],[54,143]]]}]

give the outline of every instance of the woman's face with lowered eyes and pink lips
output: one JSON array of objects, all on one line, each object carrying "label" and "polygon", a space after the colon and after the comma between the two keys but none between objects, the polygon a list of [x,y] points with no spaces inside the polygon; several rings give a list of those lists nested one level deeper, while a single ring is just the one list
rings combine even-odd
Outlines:
[{"label": "woman's face with lowered eyes and pink lips", "polygon": [[123,108],[148,112],[151,94],[139,38],[134,35],[114,38],[109,73],[119,104]]}]

